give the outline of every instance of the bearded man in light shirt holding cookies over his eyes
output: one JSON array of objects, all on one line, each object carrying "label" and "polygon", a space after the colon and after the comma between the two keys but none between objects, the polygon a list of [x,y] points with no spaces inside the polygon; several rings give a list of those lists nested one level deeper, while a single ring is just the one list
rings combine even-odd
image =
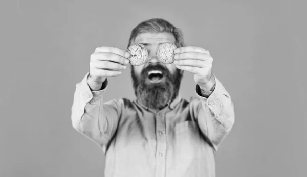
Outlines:
[{"label": "bearded man in light shirt holding cookies over his eyes", "polygon": [[[158,46],[178,47],[175,61],[163,64]],[[229,93],[212,73],[210,53],[185,46],[183,34],[164,19],[142,21],[131,32],[128,47],[143,44],[148,59],[131,65],[136,99],[104,102],[108,77],[126,69],[130,54],[99,47],[90,72],[76,85],[72,125],[104,151],[105,176],[215,176],[214,156],[234,123]],[[195,96],[179,94],[184,71],[194,74]],[[154,74],[153,74],[154,73]]]}]

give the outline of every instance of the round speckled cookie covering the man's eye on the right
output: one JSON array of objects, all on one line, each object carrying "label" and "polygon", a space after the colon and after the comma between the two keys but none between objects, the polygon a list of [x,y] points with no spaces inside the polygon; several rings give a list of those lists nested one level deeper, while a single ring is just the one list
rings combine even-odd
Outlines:
[{"label": "round speckled cookie covering the man's eye on the right", "polygon": [[164,42],[159,45],[157,51],[157,58],[164,64],[171,64],[174,62],[175,49],[177,46],[171,42]]}]

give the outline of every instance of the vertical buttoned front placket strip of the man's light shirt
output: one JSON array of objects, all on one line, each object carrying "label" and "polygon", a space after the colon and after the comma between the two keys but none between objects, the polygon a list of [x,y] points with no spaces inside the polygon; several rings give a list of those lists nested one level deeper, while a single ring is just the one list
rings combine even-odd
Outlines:
[{"label": "vertical buttoned front placket strip of the man's light shirt", "polygon": [[156,177],[165,176],[166,134],[164,113],[159,112],[156,117]]}]

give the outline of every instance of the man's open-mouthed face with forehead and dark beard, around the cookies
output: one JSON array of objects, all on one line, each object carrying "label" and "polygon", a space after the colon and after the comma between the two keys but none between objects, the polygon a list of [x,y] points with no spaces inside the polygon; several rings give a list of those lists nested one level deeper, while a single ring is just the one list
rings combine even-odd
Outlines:
[{"label": "man's open-mouthed face with forehead and dark beard, around the cookies", "polygon": [[143,44],[148,50],[147,62],[131,70],[137,99],[147,107],[162,109],[178,95],[183,72],[173,63],[161,63],[156,56],[159,44],[175,40],[171,33],[142,33],[131,43]]}]

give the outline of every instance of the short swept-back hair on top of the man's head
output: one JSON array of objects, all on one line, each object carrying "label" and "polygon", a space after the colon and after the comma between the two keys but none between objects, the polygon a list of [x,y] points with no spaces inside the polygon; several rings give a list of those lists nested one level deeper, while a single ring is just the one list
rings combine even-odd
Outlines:
[{"label": "short swept-back hair on top of the man's head", "polygon": [[163,33],[168,32],[174,35],[175,37],[175,45],[177,47],[185,46],[183,33],[179,28],[174,27],[170,22],[162,19],[162,18],[151,18],[136,26],[130,34],[130,39],[127,48],[131,45],[131,43],[136,39],[136,37],[141,33]]}]

